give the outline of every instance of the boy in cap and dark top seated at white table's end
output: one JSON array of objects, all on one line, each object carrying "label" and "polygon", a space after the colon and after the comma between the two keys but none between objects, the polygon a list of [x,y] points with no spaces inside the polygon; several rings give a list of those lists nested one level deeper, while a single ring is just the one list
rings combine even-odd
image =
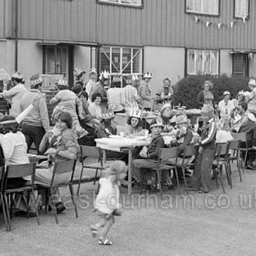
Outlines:
[{"label": "boy in cap and dark top seated at white table's end", "polygon": [[[141,159],[133,160],[133,177],[140,181],[140,170],[146,169],[144,173],[144,179],[146,180],[146,189],[152,190],[155,187],[158,189],[160,187],[160,181],[157,181],[155,185],[155,176],[153,176],[152,168],[157,167],[157,159],[160,148],[165,147],[165,141],[161,136],[164,124],[161,118],[156,118],[151,124],[150,129],[152,132],[152,142],[146,147],[146,152],[140,154]],[[144,151],[144,149],[143,149]],[[139,156],[138,156],[139,157]]]}]

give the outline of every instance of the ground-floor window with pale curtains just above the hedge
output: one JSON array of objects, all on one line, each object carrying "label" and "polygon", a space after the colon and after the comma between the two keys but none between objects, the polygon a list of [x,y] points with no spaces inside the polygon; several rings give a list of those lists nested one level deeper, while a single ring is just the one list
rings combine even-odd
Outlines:
[{"label": "ground-floor window with pale curtains just above the hedge", "polygon": [[187,50],[187,74],[219,74],[218,50]]}]

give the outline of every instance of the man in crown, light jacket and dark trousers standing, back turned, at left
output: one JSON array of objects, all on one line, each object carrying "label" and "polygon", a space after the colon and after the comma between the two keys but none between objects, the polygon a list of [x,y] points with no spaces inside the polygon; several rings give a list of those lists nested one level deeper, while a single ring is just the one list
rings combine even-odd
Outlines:
[{"label": "man in crown, light jacket and dark trousers standing, back turned, at left", "polygon": [[39,144],[46,132],[49,130],[48,107],[41,93],[43,80],[38,74],[30,78],[31,90],[28,91],[20,101],[20,110],[24,111],[30,104],[34,105],[31,112],[27,114],[22,123],[21,132],[26,136],[27,150],[34,143],[39,154]]}]

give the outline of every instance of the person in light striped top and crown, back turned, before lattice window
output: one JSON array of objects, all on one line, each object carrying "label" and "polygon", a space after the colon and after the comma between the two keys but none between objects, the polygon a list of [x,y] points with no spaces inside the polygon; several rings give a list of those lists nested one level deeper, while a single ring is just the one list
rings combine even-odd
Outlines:
[{"label": "person in light striped top and crown, back turned, before lattice window", "polygon": [[134,80],[137,79],[137,76],[129,76],[126,80],[126,86],[123,88],[124,95],[124,107],[126,109],[138,109],[140,100],[140,96],[138,95],[138,91],[134,86]]}]

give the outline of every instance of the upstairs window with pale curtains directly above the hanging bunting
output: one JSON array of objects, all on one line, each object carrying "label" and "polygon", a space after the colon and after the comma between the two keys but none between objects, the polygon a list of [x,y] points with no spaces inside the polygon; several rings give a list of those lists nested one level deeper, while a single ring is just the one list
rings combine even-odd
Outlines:
[{"label": "upstairs window with pale curtains directly above the hanging bunting", "polygon": [[219,15],[219,0],[187,0],[187,13]]}]

